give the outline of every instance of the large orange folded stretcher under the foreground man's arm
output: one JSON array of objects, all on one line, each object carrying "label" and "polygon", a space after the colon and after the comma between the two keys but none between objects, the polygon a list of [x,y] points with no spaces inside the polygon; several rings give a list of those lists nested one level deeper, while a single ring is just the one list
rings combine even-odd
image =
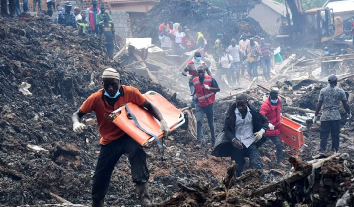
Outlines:
[{"label": "large orange folded stretcher under the foreground man's arm", "polygon": [[[171,131],[185,123],[183,113],[161,94],[148,91],[143,95],[159,109]],[[162,148],[159,139],[163,137],[164,132],[159,132],[160,122],[147,109],[133,103],[127,103],[125,106],[113,111],[109,117],[115,125],[140,145],[145,146],[156,140],[159,147]]]}]

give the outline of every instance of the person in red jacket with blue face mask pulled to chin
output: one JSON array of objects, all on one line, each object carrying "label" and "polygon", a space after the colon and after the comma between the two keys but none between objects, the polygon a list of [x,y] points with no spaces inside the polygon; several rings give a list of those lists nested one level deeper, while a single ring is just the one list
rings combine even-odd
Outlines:
[{"label": "person in red jacket with blue face mask pulled to chin", "polygon": [[263,102],[260,113],[268,119],[268,130],[264,133],[265,141],[270,139],[276,147],[276,161],[280,163],[283,160],[283,146],[280,140],[281,126],[281,100],[278,97],[278,92],[271,90],[269,97]]}]

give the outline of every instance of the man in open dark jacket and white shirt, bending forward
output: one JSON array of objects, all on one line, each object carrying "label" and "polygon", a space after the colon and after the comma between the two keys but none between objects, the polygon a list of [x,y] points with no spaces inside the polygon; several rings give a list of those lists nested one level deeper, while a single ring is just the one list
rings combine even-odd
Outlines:
[{"label": "man in open dark jacket and white shirt, bending forward", "polygon": [[[258,141],[268,128],[267,118],[248,103],[245,94],[239,94],[226,111],[223,132],[218,135],[212,152],[217,157],[231,157],[237,164],[236,177],[245,165],[245,157],[250,159],[250,167],[258,169],[265,179],[258,156]],[[263,140],[262,140],[263,141]],[[262,142],[261,141],[261,142]]]}]

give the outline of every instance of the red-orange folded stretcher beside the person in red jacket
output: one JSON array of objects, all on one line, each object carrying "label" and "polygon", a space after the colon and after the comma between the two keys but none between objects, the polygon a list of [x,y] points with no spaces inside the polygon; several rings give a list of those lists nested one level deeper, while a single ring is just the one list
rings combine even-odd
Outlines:
[{"label": "red-orange folded stretcher beside the person in red jacket", "polygon": [[280,139],[283,143],[297,150],[302,150],[305,146],[304,134],[302,128],[304,126],[282,116],[280,126]]}]

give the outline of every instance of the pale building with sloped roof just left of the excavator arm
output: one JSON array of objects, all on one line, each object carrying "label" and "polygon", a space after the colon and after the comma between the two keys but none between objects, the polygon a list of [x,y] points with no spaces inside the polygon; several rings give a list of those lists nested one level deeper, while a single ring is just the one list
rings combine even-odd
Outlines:
[{"label": "pale building with sloped roof just left of the excavator arm", "polygon": [[[288,11],[291,18],[292,14]],[[271,36],[278,35],[282,23],[287,22],[285,5],[272,0],[261,0],[250,10],[249,16],[258,21],[263,30]]]}]

